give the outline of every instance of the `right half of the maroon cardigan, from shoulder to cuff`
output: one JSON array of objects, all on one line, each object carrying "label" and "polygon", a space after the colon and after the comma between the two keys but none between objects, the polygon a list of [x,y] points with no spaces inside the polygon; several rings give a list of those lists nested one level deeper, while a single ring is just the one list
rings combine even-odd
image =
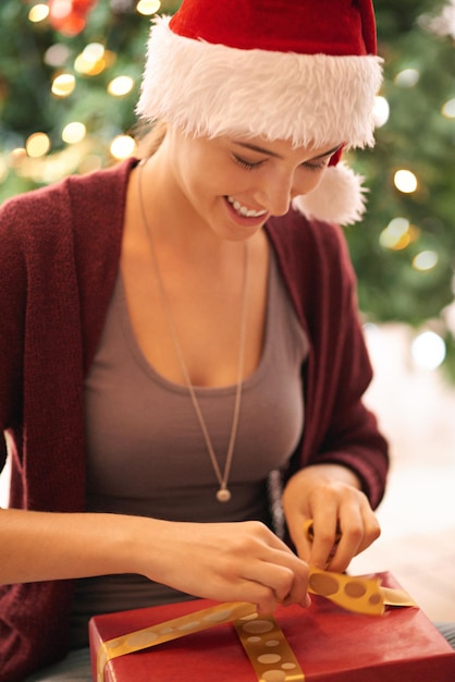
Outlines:
[{"label": "right half of the maroon cardigan, from shoulder to cuff", "polygon": [[290,211],[269,222],[282,276],[310,342],[303,368],[305,429],[290,470],[333,462],[353,470],[371,504],[382,499],[388,443],[362,395],[372,370],[356,278],[340,228]]}]

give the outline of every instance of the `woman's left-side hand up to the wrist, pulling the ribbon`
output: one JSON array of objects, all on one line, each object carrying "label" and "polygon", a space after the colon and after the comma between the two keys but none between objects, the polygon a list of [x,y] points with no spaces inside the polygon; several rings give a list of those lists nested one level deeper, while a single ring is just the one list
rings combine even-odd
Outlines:
[{"label": "woman's left-side hand up to the wrist, pulling the ribbon", "polygon": [[143,567],[152,580],[199,597],[250,601],[262,613],[279,602],[308,605],[307,564],[262,523],[162,523],[159,556]]}]

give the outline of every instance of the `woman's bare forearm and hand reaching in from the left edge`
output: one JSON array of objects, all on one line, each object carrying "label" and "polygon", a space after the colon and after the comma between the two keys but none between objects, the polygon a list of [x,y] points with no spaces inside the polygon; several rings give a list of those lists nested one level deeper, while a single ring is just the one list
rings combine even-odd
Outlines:
[{"label": "woman's bare forearm and hand reaching in from the left edge", "polygon": [[138,573],[197,597],[306,604],[308,568],[259,522],[0,510],[0,583]]}]

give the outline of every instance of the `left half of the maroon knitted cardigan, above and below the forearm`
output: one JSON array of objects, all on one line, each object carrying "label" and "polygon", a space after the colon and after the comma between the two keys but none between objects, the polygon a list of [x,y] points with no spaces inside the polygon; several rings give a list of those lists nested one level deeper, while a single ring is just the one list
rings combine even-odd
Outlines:
[{"label": "left half of the maroon knitted cardigan, above and below the forearm", "polygon": [[[119,267],[130,166],[0,209],[0,426],[12,436],[11,507],[84,509],[83,378]],[[0,466],[4,455],[0,439]],[[0,586],[2,682],[65,655],[72,595],[71,581]]]}]

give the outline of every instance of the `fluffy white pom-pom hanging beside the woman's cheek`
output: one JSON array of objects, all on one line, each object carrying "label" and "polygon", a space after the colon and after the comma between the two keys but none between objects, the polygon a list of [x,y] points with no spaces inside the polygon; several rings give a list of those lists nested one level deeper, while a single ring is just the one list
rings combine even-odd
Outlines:
[{"label": "fluffy white pom-pom hanging beside the woman's cheek", "polygon": [[343,162],[330,166],[316,190],[297,196],[293,206],[308,219],[352,224],[360,220],[365,212],[368,190],[361,186],[364,180]]}]

